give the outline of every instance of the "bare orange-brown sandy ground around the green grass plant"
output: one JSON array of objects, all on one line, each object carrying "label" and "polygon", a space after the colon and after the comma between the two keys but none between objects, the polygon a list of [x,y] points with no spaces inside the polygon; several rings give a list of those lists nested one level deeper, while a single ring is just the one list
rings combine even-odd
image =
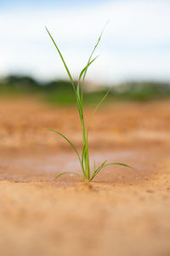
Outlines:
[{"label": "bare orange-brown sandy ground around the green grass plant", "polygon": [[[86,109],[89,118],[91,109]],[[0,255],[169,256],[170,102],[100,108],[89,134],[92,163],[122,161],[93,183],[77,171],[74,107],[0,100]]]}]

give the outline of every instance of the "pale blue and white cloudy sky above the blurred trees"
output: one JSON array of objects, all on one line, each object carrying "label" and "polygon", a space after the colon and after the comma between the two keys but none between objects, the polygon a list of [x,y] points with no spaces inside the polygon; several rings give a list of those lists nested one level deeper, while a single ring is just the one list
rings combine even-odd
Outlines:
[{"label": "pale blue and white cloudy sky above the blurred trees", "polygon": [[168,0],[1,0],[0,76],[22,73],[37,79],[67,78],[44,29],[48,26],[77,79],[109,19],[88,80],[170,81]]}]

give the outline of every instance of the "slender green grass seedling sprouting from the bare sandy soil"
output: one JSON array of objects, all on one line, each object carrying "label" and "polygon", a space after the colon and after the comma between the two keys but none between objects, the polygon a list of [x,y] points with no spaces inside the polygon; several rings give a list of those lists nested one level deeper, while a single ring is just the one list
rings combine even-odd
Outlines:
[{"label": "slender green grass seedling sprouting from the bare sandy soil", "polygon": [[[105,28],[104,28],[105,29]],[[89,130],[89,126],[91,124],[91,121],[94,117],[94,113],[96,112],[96,110],[99,108],[99,106],[101,105],[101,103],[105,100],[106,96],[108,95],[109,91],[106,92],[105,96],[101,99],[101,101],[98,103],[98,105],[96,106],[96,108],[94,108],[94,112],[92,113],[89,121],[88,121],[88,126],[87,126],[87,129],[85,128],[85,123],[84,123],[84,116],[83,116],[83,89],[84,89],[84,82],[85,82],[85,77],[86,77],[86,74],[87,74],[87,71],[88,71],[88,67],[96,60],[96,58],[98,56],[96,56],[94,59],[92,59],[92,56],[94,55],[94,51],[95,49],[97,48],[98,44],[99,44],[99,41],[101,39],[101,36],[104,32],[104,29],[103,31],[101,32],[100,36],[99,36],[99,39],[97,41],[97,44],[95,44],[94,46],[94,49],[91,53],[91,55],[89,56],[89,59],[88,59],[88,63],[87,65],[82,69],[80,75],[79,75],[79,78],[78,78],[78,82],[77,84],[74,83],[73,79],[72,79],[72,76],[71,76],[71,73],[65,63],[65,60],[63,58],[63,55],[61,55],[61,52],[57,46],[57,44],[55,44],[54,42],[54,38],[52,37],[52,35],[50,34],[50,32],[48,31],[48,28],[46,27],[46,30],[48,32],[48,35],[49,37],[52,39],[53,43],[54,43],[54,46],[55,48],[57,49],[58,53],[59,53],[59,56],[65,66],[65,70],[71,80],[71,86],[72,86],[72,89],[74,90],[75,92],[75,96],[76,96],[76,100],[77,100],[77,108],[78,108],[78,112],[79,112],[79,116],[80,116],[80,120],[81,120],[81,124],[82,124],[82,143],[83,143],[83,147],[82,147],[82,154],[80,155],[77,151],[77,148],[75,148],[75,146],[73,145],[73,143],[71,143],[71,141],[65,137],[65,135],[63,135],[62,133],[60,133],[59,131],[54,131],[54,130],[51,130],[51,129],[48,129],[49,131],[54,131],[55,133],[59,134],[61,137],[63,137],[68,143],[71,144],[71,147],[75,150],[76,154],[77,154],[77,157],[78,157],[78,161],[80,163],[80,166],[82,168],[82,175],[80,175],[79,173],[77,172],[62,172],[60,173],[56,178],[62,176],[62,175],[65,175],[65,174],[68,174],[68,173],[72,173],[72,174],[75,174],[77,175],[78,177],[81,177],[82,180],[87,180],[87,181],[92,181],[94,179],[94,177],[105,167],[105,166],[112,166],[112,165],[118,165],[118,166],[126,166],[128,168],[131,168],[130,166],[127,166],[125,164],[122,164],[122,163],[107,163],[107,160],[105,160],[100,166],[96,167],[95,165],[95,161],[94,161],[94,172],[91,174],[90,172],[90,164],[89,164],[89,154],[88,154],[88,130]],[[82,84],[81,84],[82,83]],[[81,86],[80,86],[81,84]]]}]

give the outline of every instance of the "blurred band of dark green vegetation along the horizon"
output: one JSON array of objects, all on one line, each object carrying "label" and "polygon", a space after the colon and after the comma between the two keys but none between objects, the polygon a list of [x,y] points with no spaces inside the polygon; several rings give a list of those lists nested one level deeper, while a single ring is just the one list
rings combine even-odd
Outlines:
[{"label": "blurred band of dark green vegetation along the horizon", "polygon": [[[99,102],[105,91],[110,89],[107,102],[136,101],[147,102],[170,98],[170,84],[158,82],[128,82],[114,86],[103,86],[104,90],[85,92],[85,102]],[[75,95],[71,84],[65,80],[38,82],[28,76],[10,75],[0,79],[0,96],[41,96],[42,100],[52,104],[75,104]]]}]

